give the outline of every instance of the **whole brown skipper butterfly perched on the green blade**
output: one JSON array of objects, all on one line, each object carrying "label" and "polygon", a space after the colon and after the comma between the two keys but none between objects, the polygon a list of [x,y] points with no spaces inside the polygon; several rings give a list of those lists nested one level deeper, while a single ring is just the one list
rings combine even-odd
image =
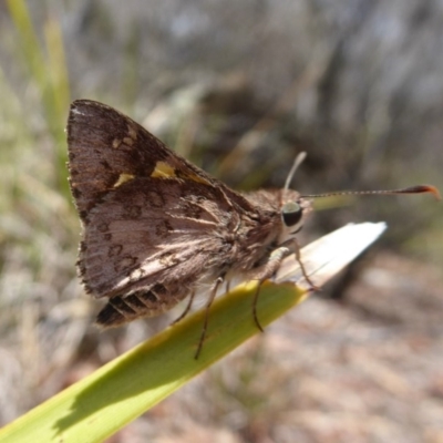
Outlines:
[{"label": "whole brown skipper butterfly perched on the green blade", "polygon": [[[86,292],[107,298],[96,320],[103,327],[158,316],[189,297],[182,318],[206,290],[198,356],[219,285],[237,275],[261,282],[287,255],[298,256],[296,235],[316,196],[289,189],[292,174],[282,189],[235,192],[130,117],[90,100],[71,105],[68,145],[83,224],[78,267]],[[427,185],[367,193],[425,192],[437,196]],[[256,299],[259,327],[255,306]]]}]

